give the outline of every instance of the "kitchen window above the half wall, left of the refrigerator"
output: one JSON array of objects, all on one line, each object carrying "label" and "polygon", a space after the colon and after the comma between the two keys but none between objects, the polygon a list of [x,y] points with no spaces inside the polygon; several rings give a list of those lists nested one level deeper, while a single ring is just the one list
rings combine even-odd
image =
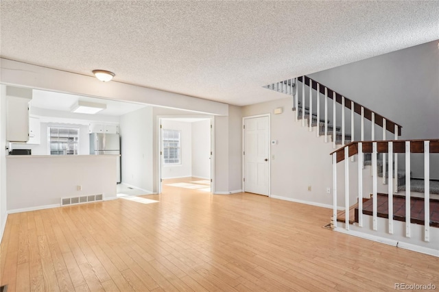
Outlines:
[{"label": "kitchen window above the half wall, left of the refrigerator", "polygon": [[51,126],[48,132],[50,155],[78,155],[78,127]]}]

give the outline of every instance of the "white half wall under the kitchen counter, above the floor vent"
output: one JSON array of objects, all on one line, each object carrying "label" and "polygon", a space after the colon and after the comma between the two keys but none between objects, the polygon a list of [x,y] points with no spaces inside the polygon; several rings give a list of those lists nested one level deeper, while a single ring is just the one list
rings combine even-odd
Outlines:
[{"label": "white half wall under the kitchen counter, above the floor vent", "polygon": [[103,155],[9,156],[8,212],[59,206],[61,197],[102,194],[104,199],[114,198],[116,159]]}]

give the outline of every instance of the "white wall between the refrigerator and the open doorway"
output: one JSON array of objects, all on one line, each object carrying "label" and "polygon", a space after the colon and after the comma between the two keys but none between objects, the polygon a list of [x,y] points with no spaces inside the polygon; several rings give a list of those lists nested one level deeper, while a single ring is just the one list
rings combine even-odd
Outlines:
[{"label": "white wall between the refrigerator and the open doorway", "polygon": [[152,193],[153,188],[152,107],[120,117],[122,183]]}]

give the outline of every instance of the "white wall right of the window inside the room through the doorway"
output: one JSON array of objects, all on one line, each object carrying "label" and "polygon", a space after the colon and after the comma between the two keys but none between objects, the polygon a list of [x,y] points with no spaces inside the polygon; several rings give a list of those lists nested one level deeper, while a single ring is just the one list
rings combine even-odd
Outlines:
[{"label": "white wall right of the window inside the room through the doorway", "polygon": [[192,123],[192,176],[211,179],[211,120]]}]

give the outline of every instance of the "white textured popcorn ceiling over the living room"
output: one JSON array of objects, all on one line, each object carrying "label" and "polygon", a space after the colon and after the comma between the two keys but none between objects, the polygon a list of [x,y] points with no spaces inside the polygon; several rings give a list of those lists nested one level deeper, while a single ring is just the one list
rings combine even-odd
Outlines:
[{"label": "white textured popcorn ceiling over the living room", "polygon": [[1,1],[2,58],[222,101],[439,39],[439,1]]}]

